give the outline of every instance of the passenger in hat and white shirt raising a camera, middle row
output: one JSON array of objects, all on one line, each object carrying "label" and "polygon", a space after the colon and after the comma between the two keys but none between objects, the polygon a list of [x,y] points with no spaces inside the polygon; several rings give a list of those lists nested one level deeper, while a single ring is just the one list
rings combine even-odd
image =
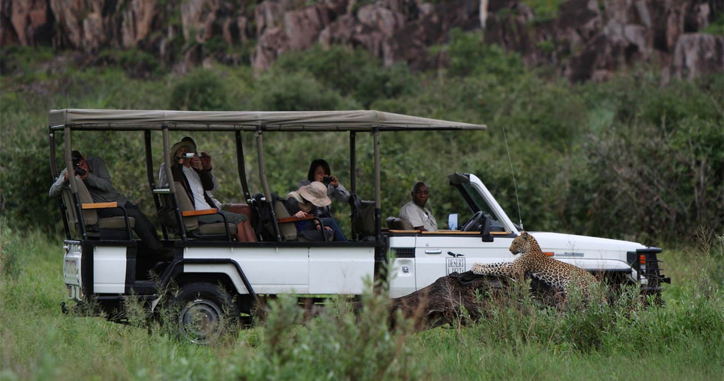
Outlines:
[{"label": "passenger in hat and white shirt raising a camera, middle row", "polygon": [[[185,138],[187,139],[187,138]],[[196,146],[190,138],[182,140],[171,148],[171,172],[174,181],[182,184],[184,191],[188,194],[195,210],[203,209],[219,209],[214,200],[206,191],[214,189],[214,179],[211,177],[211,162],[209,166],[204,168],[201,158],[195,154]],[[185,157],[185,154],[193,154],[192,157]],[[166,176],[166,170],[161,167],[159,170],[159,185],[168,186],[169,181]],[[226,212],[219,209],[220,214],[224,214],[227,222],[237,225],[236,238],[240,242],[256,242],[256,236],[251,228],[251,223],[243,214]],[[198,222],[209,224],[214,222],[224,222],[224,218],[219,214],[206,214],[198,216]]]}]

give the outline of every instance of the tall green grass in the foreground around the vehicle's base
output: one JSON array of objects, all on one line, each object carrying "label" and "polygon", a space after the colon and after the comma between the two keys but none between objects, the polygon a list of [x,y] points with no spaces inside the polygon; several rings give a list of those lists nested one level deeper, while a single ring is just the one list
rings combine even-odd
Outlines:
[{"label": "tall green grass in the foreground around the vehicle's base", "polygon": [[710,380],[724,372],[724,295],[710,276],[721,238],[707,252],[664,256],[674,277],[665,306],[644,308],[625,293],[613,306],[560,311],[518,297],[487,303],[480,322],[412,333],[410,322],[390,330],[378,296],[365,296],[356,317],[337,299],[309,320],[279,298],[256,327],[195,346],[153,322],[62,314],[60,238],[2,229],[3,380]]}]

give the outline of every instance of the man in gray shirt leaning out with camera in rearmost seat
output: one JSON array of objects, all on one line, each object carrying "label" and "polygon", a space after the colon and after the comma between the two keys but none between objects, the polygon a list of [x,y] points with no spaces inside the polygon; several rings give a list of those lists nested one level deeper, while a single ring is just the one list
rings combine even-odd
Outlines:
[{"label": "man in gray shirt leaning out with camera in rearmost seat", "polygon": [[[153,226],[151,221],[148,220],[146,214],[140,212],[138,206],[128,201],[125,196],[116,191],[111,183],[111,175],[108,172],[106,163],[100,157],[93,156],[82,156],[80,152],[73,151],[72,156],[74,162],[79,163],[79,167],[85,169],[84,175],[78,175],[85,188],[88,188],[90,198],[93,198],[93,202],[117,202],[118,205],[123,206],[128,212],[128,217],[135,218],[135,227],[133,231],[138,234],[138,237],[151,251],[163,251],[164,246],[159,241],[159,235],[156,233],[156,227]],[[68,185],[68,173],[66,169],[60,172],[60,175],[55,180],[55,183],[50,187],[50,196],[60,196],[63,188]],[[115,217],[122,216],[123,212],[121,209],[98,209],[98,217]]]}]

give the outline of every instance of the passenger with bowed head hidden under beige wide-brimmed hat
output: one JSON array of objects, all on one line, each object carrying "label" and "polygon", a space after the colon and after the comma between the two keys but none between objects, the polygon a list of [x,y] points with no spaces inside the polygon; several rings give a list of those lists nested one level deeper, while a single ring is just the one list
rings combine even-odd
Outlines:
[{"label": "passenger with bowed head hidden under beige wide-brimmed hat", "polygon": [[[333,217],[321,217],[321,210],[325,206],[332,204],[332,200],[327,196],[327,187],[319,181],[314,181],[309,185],[304,185],[297,191],[287,193],[285,197],[285,206],[290,215],[297,218],[304,218],[308,214],[312,214],[321,219],[324,229],[334,231],[334,240],[338,242],[346,241],[345,233],[342,233],[340,226]],[[319,230],[321,227],[316,220],[306,220],[296,223],[297,230]]]}]

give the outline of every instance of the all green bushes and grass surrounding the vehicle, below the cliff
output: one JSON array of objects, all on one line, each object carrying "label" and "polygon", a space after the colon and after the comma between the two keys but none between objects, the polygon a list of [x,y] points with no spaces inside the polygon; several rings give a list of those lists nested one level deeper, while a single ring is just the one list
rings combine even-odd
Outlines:
[{"label": "all green bushes and grass surrounding the vehicle, below the cliff", "polygon": [[[450,67],[384,68],[364,51],[292,52],[268,72],[214,64],[179,76],[138,51],[105,51],[103,67],[72,56],[9,48],[0,60],[0,378],[56,379],[581,379],[710,380],[724,371],[724,78],[662,85],[657,67],[607,83],[570,84],[547,68],[452,33]],[[150,75],[138,76],[145,67]],[[128,70],[131,67],[132,70]],[[355,323],[343,306],[302,322],[283,301],[266,327],[216,346],[193,346],[149,327],[68,317],[61,217],[47,192],[49,109],[379,109],[487,124],[476,133],[382,135],[383,215],[397,214],[416,180],[429,183],[439,221],[464,206],[453,171],[479,175],[517,221],[508,151],[526,229],[636,239],[665,246],[667,306],[615,306],[562,314],[491,309],[489,319],[411,335],[390,331],[384,300],[368,296]],[[182,135],[174,134],[179,139]],[[240,200],[232,135],[196,134],[222,180],[216,196]],[[252,191],[260,189],[245,136]],[[75,148],[102,156],[122,193],[153,215],[142,135],[76,133]],[[156,166],[160,135],[154,136]],[[348,136],[266,136],[272,191],[292,190],[316,157],[349,184]],[[371,138],[358,136],[358,193],[372,196]],[[337,217],[348,229],[348,207]],[[718,236],[718,238],[717,238]],[[523,311],[523,312],[521,312]]]}]

